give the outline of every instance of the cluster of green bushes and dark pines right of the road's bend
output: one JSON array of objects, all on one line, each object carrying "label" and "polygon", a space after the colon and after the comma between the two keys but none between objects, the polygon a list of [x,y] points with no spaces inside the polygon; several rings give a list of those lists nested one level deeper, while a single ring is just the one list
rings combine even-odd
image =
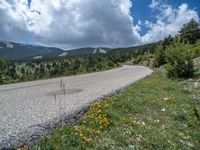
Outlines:
[{"label": "cluster of green bushes and dark pines right of the road's bend", "polygon": [[150,67],[164,66],[170,78],[191,78],[195,69],[193,59],[200,57],[200,26],[195,20],[185,24],[175,37],[168,36],[157,43],[153,55],[134,58],[134,64],[149,64]]}]

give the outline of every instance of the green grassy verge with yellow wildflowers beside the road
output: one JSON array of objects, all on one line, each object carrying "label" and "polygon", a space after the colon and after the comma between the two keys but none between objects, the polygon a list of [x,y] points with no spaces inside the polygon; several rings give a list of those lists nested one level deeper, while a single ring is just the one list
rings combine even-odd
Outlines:
[{"label": "green grassy verge with yellow wildflowers beside the road", "polygon": [[57,128],[32,149],[198,150],[200,103],[193,97],[199,92],[157,70],[129,90],[95,102],[78,123]]}]

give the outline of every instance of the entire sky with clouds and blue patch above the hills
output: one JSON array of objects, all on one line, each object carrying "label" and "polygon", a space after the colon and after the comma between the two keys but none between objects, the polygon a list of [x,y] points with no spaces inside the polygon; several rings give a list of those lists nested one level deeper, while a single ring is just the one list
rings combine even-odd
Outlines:
[{"label": "entire sky with clouds and blue patch above the hills", "polygon": [[199,13],[199,0],[0,0],[0,40],[127,47],[175,35]]}]

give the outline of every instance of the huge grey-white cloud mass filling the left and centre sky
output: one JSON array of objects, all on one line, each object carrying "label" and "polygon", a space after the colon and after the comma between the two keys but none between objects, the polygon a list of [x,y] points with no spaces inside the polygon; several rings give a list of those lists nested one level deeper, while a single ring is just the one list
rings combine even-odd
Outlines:
[{"label": "huge grey-white cloud mass filling the left and centre sky", "polygon": [[130,0],[0,0],[0,38],[64,48],[140,42]]}]

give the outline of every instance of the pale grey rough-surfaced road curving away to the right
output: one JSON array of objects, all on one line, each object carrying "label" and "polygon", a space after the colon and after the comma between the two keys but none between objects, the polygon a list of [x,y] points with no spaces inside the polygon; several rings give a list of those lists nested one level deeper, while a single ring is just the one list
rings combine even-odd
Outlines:
[{"label": "pale grey rough-surfaced road curving away to the right", "polygon": [[115,93],[152,70],[123,66],[104,72],[0,86],[0,149],[49,132],[61,116]]}]

